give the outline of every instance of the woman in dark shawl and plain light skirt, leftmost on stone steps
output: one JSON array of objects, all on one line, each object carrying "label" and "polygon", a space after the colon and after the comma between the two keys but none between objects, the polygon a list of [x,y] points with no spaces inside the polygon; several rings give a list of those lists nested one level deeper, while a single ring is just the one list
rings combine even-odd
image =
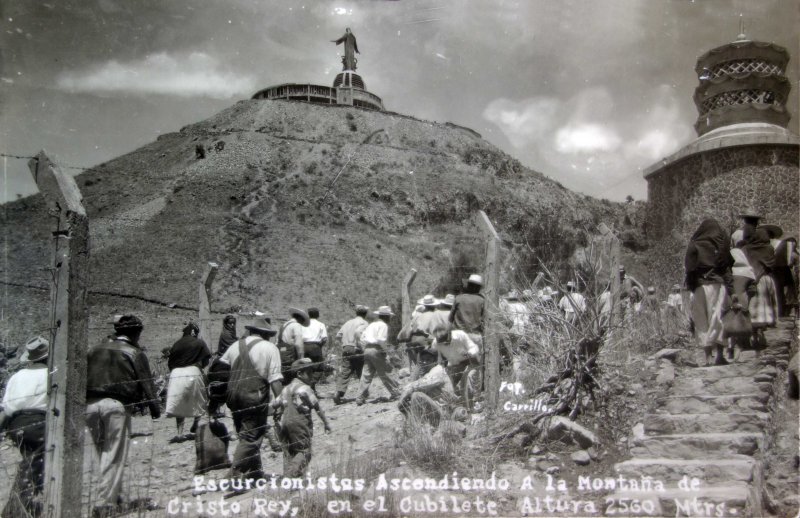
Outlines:
[{"label": "woman in dark shawl and plain light skirt, leftmost on stone steps", "polygon": [[723,356],[722,309],[732,288],[729,237],[715,219],[700,223],[686,248],[686,286],[692,293],[692,322],[697,344],[703,348],[706,365],[716,348],[715,365],[728,362]]}]

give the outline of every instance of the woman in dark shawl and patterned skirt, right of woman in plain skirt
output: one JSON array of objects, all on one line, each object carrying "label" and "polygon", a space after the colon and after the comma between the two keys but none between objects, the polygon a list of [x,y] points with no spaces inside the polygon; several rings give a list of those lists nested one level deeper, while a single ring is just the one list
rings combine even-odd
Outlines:
[{"label": "woman in dark shawl and patterned skirt, right of woman in plain skirt", "polygon": [[756,293],[750,298],[750,320],[753,323],[753,340],[756,349],[763,349],[764,328],[774,327],[778,315],[778,298],[772,270],[775,268],[775,249],[769,241],[769,233],[757,228],[742,243],[742,251],[753,269]]}]

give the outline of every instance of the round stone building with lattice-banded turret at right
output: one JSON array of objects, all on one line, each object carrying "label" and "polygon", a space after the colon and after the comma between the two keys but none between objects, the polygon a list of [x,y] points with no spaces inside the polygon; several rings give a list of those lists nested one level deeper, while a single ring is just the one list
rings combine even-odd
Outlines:
[{"label": "round stone building with lattice-banded turret at right", "polygon": [[651,244],[682,260],[679,247],[704,217],[733,230],[745,211],[798,234],[800,137],[787,129],[788,62],[785,48],[744,34],[698,58],[698,137],[644,171]]}]

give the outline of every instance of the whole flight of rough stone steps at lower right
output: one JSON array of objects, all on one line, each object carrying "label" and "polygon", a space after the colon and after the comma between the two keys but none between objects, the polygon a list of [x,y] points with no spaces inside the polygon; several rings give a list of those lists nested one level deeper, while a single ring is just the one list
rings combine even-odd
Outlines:
[{"label": "whole flight of rough stone steps at lower right", "polygon": [[[731,365],[696,367],[694,351],[687,350],[655,355],[661,365],[654,382],[667,390],[654,413],[634,427],[633,458],[614,466],[638,483],[638,490],[628,484],[610,495],[617,514],[624,498],[629,499],[626,505],[638,500],[631,506],[632,515],[763,514],[760,450],[769,419],[767,404],[774,378],[788,364],[792,325],[781,322],[767,331],[769,346],[760,358],[743,352]],[[684,475],[688,484],[682,488]],[[642,491],[641,477],[662,481],[664,491]]]}]

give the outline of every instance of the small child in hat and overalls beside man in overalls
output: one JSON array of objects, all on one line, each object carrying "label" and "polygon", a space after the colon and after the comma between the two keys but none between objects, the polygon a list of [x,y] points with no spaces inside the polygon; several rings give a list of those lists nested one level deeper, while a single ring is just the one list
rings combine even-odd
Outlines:
[{"label": "small child in hat and overalls beside man in overalls", "polygon": [[311,410],[315,410],[322,419],[325,433],[331,431],[325,412],[319,407],[319,400],[310,387],[314,367],[310,358],[293,362],[291,368],[296,377],[271,403],[275,420],[280,418],[278,430],[283,446],[284,477],[302,477],[311,462],[311,439],[314,436]]}]

